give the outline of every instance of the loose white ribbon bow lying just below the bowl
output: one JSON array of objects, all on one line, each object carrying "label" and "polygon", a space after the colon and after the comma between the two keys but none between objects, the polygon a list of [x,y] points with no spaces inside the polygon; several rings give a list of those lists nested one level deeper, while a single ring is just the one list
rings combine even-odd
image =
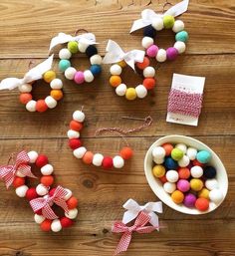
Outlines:
[{"label": "loose white ribbon bow lying just below the bowl", "polygon": [[[160,201],[138,205],[136,201],[130,198],[122,205],[122,207],[126,209],[122,217],[122,222],[124,224],[136,218],[140,211],[144,211],[151,217],[149,223],[152,226],[159,227],[158,216],[154,213],[154,211],[162,213],[162,203]],[[159,230],[159,228],[157,228],[157,230]]]}]

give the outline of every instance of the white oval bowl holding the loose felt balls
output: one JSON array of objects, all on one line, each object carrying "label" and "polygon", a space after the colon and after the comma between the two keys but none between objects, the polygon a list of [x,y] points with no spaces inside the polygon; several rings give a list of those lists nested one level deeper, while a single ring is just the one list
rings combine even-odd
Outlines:
[{"label": "white oval bowl holding the loose felt balls", "polygon": [[219,156],[209,146],[202,143],[201,141],[199,141],[195,138],[192,138],[190,136],[183,136],[183,135],[167,135],[167,136],[160,137],[154,143],[152,143],[151,146],[148,148],[145,158],[144,158],[144,171],[145,171],[145,176],[146,176],[147,182],[148,182],[149,186],[151,187],[152,191],[166,205],[168,205],[172,209],[182,212],[182,213],[196,215],[196,214],[208,213],[208,212],[215,210],[222,203],[222,201],[219,204],[210,202],[209,209],[207,211],[199,211],[196,208],[188,208],[188,207],[184,206],[183,204],[174,203],[170,197],[170,194],[168,194],[167,192],[164,191],[161,181],[158,178],[153,176],[152,167],[154,165],[154,162],[152,160],[152,155],[151,155],[152,149],[155,146],[161,145],[166,142],[170,142],[173,144],[185,143],[187,146],[192,146],[199,150],[206,149],[209,152],[211,152],[212,158],[211,158],[209,164],[214,166],[217,170],[216,179],[219,182],[219,189],[221,189],[221,191],[223,192],[224,198],[228,191],[227,172],[226,172],[226,169],[225,169],[222,161],[220,160]]}]

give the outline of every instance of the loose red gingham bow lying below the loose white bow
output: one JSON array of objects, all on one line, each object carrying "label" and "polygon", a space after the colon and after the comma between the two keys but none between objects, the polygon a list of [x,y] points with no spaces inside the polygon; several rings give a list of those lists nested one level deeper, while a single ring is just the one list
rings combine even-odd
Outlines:
[{"label": "loose red gingham bow lying below the loose white bow", "polygon": [[121,221],[115,222],[112,228],[112,232],[123,233],[117,245],[115,255],[127,250],[133,231],[143,234],[143,233],[151,233],[153,230],[156,229],[156,227],[154,226],[145,226],[146,223],[149,222],[149,220],[150,220],[150,215],[148,215],[143,211],[140,211],[137,218],[134,221],[133,226],[131,227],[125,226]]}]

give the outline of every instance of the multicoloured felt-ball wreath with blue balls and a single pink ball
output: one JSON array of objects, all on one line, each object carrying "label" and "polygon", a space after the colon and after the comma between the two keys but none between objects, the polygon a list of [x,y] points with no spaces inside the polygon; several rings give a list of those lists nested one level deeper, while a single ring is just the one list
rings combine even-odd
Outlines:
[{"label": "multicoloured felt-ball wreath with blue balls and a single pink ball", "polygon": [[[74,54],[85,53],[90,59],[91,67],[88,70],[80,71],[72,67],[70,59]],[[74,80],[78,85],[92,83],[102,72],[102,57],[98,54],[97,47],[79,42],[69,42],[67,48],[63,48],[59,53],[59,69],[65,73],[68,80]]]}]

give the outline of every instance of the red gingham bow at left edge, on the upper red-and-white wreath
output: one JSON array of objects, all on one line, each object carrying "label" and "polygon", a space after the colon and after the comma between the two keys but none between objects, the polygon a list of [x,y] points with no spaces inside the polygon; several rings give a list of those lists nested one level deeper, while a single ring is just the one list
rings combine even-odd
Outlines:
[{"label": "red gingham bow at left edge, on the upper red-and-white wreath", "polygon": [[16,160],[12,165],[0,166],[0,178],[5,181],[7,188],[13,183],[17,171],[25,176],[37,178],[31,172],[29,162],[30,158],[27,152],[23,150],[16,155]]}]

